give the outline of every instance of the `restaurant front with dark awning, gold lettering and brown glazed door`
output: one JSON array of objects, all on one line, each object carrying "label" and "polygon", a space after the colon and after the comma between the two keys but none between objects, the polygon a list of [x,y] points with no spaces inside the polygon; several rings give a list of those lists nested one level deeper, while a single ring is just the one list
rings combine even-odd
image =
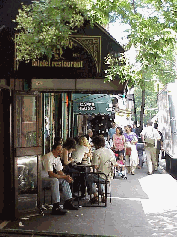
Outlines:
[{"label": "restaurant front with dark awning, gold lettering and brown glazed door", "polygon": [[[41,206],[40,157],[51,149],[54,137],[65,140],[78,135],[76,94],[85,98],[89,94],[89,101],[79,102],[81,114],[86,107],[87,112],[95,109],[96,116],[112,116],[108,95],[123,94],[126,83],[120,84],[118,78],[104,82],[104,57],[123,51],[106,30],[99,25],[91,28],[87,22],[71,36],[68,48],[54,51],[51,60],[44,57],[29,63],[16,62],[16,79],[6,81],[1,91],[1,113],[5,116],[1,124],[8,131],[1,128],[7,146],[3,148],[5,153],[1,150],[5,155],[1,160],[4,181],[0,191],[4,196],[0,212],[5,219],[17,218],[26,210]],[[102,95],[107,102],[97,111]],[[9,103],[7,107],[5,101]],[[98,131],[105,131],[100,128]],[[8,174],[11,179],[5,183]]]}]

